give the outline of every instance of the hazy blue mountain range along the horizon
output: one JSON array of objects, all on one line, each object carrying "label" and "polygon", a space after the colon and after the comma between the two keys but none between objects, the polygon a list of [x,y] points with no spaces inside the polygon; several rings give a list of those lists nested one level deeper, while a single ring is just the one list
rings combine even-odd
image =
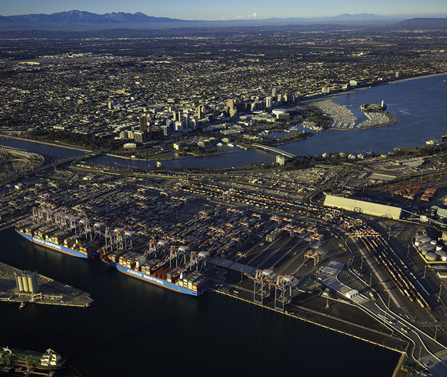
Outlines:
[{"label": "hazy blue mountain range along the horizon", "polygon": [[[416,20],[416,21],[413,21]],[[396,20],[388,17],[374,15],[372,13],[360,13],[351,15],[344,13],[335,17],[317,18],[266,18],[250,20],[178,20],[168,17],[152,17],[144,13],[96,13],[82,10],[69,10],[68,12],[31,15],[0,15],[1,31],[20,30],[47,30],[47,31],[89,31],[104,29],[166,29],[178,27],[234,27],[234,26],[261,26],[261,25],[285,25],[285,24],[343,24],[346,26],[374,26],[395,25],[397,27],[418,28],[427,25],[428,29],[445,29],[447,19],[413,19]],[[436,21],[433,21],[436,20]]]}]

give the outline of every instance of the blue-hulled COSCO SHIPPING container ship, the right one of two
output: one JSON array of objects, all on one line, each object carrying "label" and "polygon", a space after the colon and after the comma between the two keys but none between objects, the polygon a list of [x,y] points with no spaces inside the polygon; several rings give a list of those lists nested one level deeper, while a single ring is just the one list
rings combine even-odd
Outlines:
[{"label": "blue-hulled COSCO SHIPPING container ship, the right one of two", "polygon": [[101,259],[119,272],[185,295],[200,296],[208,288],[203,274],[188,270],[185,264],[171,269],[169,258],[149,259],[134,251],[112,251],[101,255]]}]

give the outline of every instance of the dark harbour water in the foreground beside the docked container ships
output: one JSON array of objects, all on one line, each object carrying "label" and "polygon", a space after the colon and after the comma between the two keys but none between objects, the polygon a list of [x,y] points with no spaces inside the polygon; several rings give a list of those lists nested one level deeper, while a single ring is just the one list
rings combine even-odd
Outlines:
[{"label": "dark harbour water in the foreground beside the docked container ships", "polygon": [[[399,355],[256,306],[179,295],[0,233],[0,260],[91,294],[89,309],[0,304],[1,345],[67,357],[82,376],[391,376]],[[380,362],[378,362],[380,360]]]}]

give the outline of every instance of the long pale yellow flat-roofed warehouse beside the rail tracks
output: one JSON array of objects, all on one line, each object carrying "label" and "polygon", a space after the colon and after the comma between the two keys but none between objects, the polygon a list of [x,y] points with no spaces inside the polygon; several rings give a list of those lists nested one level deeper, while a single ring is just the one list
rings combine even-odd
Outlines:
[{"label": "long pale yellow flat-roofed warehouse beside the rail tracks", "polygon": [[363,200],[342,198],[341,196],[326,195],[324,205],[327,207],[346,209],[347,211],[369,214],[372,216],[386,217],[399,220],[402,216],[402,208],[390,205],[381,205]]}]

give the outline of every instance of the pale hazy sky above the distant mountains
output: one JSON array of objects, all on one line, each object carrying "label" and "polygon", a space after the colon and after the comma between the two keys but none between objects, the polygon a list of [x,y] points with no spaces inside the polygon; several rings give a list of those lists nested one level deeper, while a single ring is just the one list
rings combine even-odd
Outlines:
[{"label": "pale hazy sky above the distant mountains", "polygon": [[401,17],[447,17],[446,0],[0,0],[0,15],[142,12],[155,17],[219,20],[240,17],[321,17],[374,13]]}]

